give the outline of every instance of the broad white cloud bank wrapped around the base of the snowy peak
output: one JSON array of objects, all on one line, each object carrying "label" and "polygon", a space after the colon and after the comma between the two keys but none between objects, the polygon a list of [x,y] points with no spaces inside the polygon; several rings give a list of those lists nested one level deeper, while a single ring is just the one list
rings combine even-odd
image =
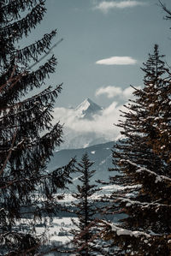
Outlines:
[{"label": "broad white cloud bank wrapped around the base of the snowy peak", "polygon": [[120,135],[120,129],[115,127],[114,123],[118,122],[122,105],[118,106],[117,102],[113,102],[101,115],[96,115],[92,120],[79,119],[74,110],[66,108],[56,108],[54,110],[54,123],[60,120],[64,123],[65,140],[70,140],[68,137],[79,136],[80,134],[94,133],[97,137],[103,137],[106,140],[116,140]]}]

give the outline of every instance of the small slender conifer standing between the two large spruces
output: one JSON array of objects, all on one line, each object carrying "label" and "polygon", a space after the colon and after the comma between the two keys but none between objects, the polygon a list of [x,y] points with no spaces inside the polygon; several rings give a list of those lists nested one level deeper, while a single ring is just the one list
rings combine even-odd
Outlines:
[{"label": "small slender conifer standing between the two large spruces", "polygon": [[[96,225],[96,214],[98,212],[93,195],[99,191],[97,185],[91,184],[91,177],[95,170],[91,170],[93,162],[85,153],[78,164],[77,171],[80,174],[80,185],[77,186],[77,192],[73,194],[76,199],[74,202],[75,214],[78,221],[73,223],[76,229],[72,229],[74,235],[74,255],[109,255],[105,253],[102,247],[102,241],[99,239]],[[100,253],[100,254],[99,254]]]}]

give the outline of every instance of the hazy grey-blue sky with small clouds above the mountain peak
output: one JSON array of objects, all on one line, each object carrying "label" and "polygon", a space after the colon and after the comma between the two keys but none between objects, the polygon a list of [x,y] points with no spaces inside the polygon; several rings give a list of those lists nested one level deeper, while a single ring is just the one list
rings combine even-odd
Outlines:
[{"label": "hazy grey-blue sky with small clouds above the mountain peak", "polygon": [[121,104],[119,92],[143,85],[140,67],[154,44],[171,63],[171,22],[163,20],[157,0],[49,0],[46,7],[32,39],[54,28],[56,40],[64,39],[53,50],[58,66],[49,80],[63,82],[56,106],[76,106],[85,98],[104,107],[114,100]]}]

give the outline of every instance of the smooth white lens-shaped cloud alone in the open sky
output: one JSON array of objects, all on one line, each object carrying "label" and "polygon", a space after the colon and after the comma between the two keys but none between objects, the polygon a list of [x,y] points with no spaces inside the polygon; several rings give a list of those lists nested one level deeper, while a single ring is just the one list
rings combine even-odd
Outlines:
[{"label": "smooth white lens-shaped cloud alone in the open sky", "polygon": [[133,65],[136,63],[137,61],[133,57],[109,57],[96,62],[101,65]]}]

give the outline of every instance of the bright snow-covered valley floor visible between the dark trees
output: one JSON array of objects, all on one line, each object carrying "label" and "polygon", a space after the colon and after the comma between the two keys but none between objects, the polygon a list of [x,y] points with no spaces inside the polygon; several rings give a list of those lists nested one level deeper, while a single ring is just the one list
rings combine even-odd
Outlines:
[{"label": "bright snow-covered valley floor visible between the dark trees", "polygon": [[[116,190],[121,190],[123,187],[118,186],[118,185],[109,185],[109,186],[103,186],[101,187],[101,190],[95,193],[92,197],[92,201],[95,199],[100,199],[102,195],[109,195],[112,192],[115,192]],[[75,201],[74,197],[72,196],[71,193],[66,193],[64,199],[61,200],[61,203],[63,205],[68,205],[70,210],[72,209],[73,201]],[[97,204],[97,202],[96,202]],[[44,249],[45,251],[48,251],[49,246],[52,247],[61,247],[63,248],[71,248],[72,247],[72,240],[73,240],[73,235],[70,233],[71,229],[76,229],[76,226],[74,225],[75,222],[78,221],[78,218],[75,217],[74,214],[68,213],[66,216],[64,214],[65,212],[60,211],[58,217],[53,217],[46,223],[46,227],[44,226],[44,223],[39,222],[36,224],[35,231],[37,235],[44,235],[45,233],[45,238],[44,238]],[[97,216],[100,217],[100,216]],[[117,223],[118,219],[121,218],[118,215],[115,216],[110,216],[109,220],[112,223]],[[74,220],[74,223],[72,222],[72,219]],[[32,226],[33,220],[32,218],[27,218],[27,219],[22,219],[22,225],[23,228],[25,227],[24,225],[27,225],[27,222],[30,223],[30,226]],[[47,249],[47,250],[46,250]],[[45,255],[47,256],[52,256],[52,255],[65,255],[65,254],[57,254],[57,253],[46,253]]]}]

